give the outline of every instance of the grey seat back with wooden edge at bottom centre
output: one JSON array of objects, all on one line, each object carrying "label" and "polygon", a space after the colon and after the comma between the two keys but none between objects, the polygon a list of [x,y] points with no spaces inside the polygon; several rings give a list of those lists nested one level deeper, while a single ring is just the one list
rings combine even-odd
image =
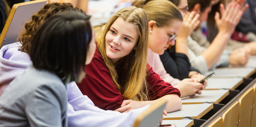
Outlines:
[{"label": "grey seat back with wooden edge at bottom centre", "polygon": [[158,124],[163,117],[165,105],[166,100],[164,99],[151,105],[148,110],[142,112],[136,118],[133,127],[158,127]]}]

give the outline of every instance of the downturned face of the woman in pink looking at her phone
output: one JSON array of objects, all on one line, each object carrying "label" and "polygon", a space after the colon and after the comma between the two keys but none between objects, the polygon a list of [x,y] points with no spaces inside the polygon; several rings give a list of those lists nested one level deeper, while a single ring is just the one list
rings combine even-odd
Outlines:
[{"label": "downturned face of the woman in pink looking at her phone", "polygon": [[169,45],[175,45],[175,40],[171,40],[170,42],[168,40],[170,36],[176,35],[179,32],[182,22],[173,20],[168,26],[158,27],[156,24],[152,25],[150,21],[149,26],[151,31],[149,32],[149,48],[153,52],[162,55]]}]

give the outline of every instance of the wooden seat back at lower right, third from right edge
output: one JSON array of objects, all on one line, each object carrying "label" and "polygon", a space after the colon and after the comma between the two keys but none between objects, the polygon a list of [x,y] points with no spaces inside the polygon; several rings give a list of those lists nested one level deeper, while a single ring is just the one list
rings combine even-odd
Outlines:
[{"label": "wooden seat back at lower right, third from right edge", "polygon": [[235,102],[222,115],[223,127],[238,127],[239,102]]}]

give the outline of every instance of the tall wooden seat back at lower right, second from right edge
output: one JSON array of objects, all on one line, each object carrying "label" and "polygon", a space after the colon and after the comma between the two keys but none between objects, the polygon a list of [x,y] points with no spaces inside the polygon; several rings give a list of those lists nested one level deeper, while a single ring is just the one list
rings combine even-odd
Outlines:
[{"label": "tall wooden seat back at lower right, second from right edge", "polygon": [[240,98],[238,127],[250,127],[254,89],[249,88]]}]

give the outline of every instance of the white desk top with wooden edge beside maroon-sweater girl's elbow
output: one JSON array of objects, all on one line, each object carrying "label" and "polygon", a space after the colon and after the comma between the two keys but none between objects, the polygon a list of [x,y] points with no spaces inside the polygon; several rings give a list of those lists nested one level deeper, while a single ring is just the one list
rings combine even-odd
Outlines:
[{"label": "white desk top with wooden edge beside maroon-sweater girl's elbow", "polygon": [[200,119],[207,112],[213,109],[212,103],[201,103],[201,104],[185,104],[182,105],[180,111],[174,111],[167,113],[167,116],[163,115],[164,120],[177,120],[184,117],[192,117],[194,119]]}]

